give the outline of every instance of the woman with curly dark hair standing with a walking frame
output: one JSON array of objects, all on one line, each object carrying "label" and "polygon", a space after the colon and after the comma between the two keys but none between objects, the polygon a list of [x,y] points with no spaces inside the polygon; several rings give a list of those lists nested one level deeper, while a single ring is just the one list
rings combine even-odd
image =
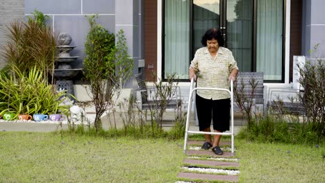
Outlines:
[{"label": "woman with curly dark hair standing with a walking frame", "polygon": [[[233,53],[224,48],[224,38],[217,28],[206,30],[201,43],[204,47],[198,49],[190,64],[190,80],[197,81],[197,87],[213,87],[229,89],[230,81],[238,75],[237,62]],[[199,130],[210,132],[211,119],[215,132],[229,130],[230,96],[225,91],[197,90],[197,117]],[[206,142],[202,148],[212,148],[213,153],[222,155],[219,147],[221,135],[215,135],[213,141],[210,134],[204,134]]]}]

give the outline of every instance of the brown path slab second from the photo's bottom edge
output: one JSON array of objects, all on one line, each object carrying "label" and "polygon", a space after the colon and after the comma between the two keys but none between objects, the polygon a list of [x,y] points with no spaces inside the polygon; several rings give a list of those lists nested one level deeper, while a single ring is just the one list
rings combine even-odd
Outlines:
[{"label": "brown path slab second from the photo's bottom edge", "polygon": [[219,162],[213,160],[201,159],[184,159],[184,164],[201,165],[201,166],[222,166],[222,167],[238,167],[238,162]]}]

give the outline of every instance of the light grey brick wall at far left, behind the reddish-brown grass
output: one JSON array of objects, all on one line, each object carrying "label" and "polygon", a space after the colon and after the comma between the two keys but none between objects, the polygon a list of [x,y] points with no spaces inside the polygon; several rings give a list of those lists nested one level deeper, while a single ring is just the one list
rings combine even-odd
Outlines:
[{"label": "light grey brick wall at far left, behind the reddish-brown grass", "polygon": [[[0,3],[0,46],[6,43],[6,25],[11,21],[24,17],[24,0],[1,0]],[[2,49],[1,49],[2,51]],[[0,55],[0,68],[4,66],[3,56]]]}]

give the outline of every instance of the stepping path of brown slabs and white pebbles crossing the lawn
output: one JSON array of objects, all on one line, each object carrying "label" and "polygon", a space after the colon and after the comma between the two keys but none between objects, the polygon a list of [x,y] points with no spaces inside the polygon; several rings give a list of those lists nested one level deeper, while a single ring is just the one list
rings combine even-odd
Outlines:
[{"label": "stepping path of brown slabs and white pebbles crossing the lawn", "polygon": [[[212,150],[197,148],[204,141],[188,141],[188,146],[195,149],[186,150],[187,157],[183,161],[183,167],[178,173],[178,182],[238,182],[239,162],[231,152],[225,151],[231,146],[230,141],[222,141],[219,146],[224,150],[224,155],[215,155]],[[191,172],[194,171],[194,172]]]}]

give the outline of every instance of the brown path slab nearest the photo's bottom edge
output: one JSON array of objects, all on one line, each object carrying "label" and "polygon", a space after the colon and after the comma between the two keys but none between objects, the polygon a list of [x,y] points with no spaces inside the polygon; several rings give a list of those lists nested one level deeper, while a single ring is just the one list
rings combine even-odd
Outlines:
[{"label": "brown path slab nearest the photo's bottom edge", "polygon": [[178,178],[185,178],[190,180],[207,180],[207,181],[227,181],[238,182],[237,175],[213,175],[206,173],[185,173],[180,172],[177,175]]}]

